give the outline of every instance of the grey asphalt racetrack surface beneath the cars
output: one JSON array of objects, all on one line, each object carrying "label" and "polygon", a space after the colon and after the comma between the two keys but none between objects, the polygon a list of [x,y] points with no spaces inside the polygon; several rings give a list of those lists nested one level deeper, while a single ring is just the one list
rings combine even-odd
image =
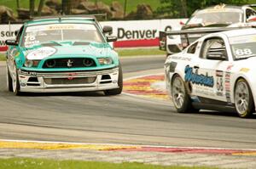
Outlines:
[{"label": "grey asphalt racetrack surface beneath the cars", "polygon": [[[165,56],[122,59],[125,77],[159,73]],[[256,149],[256,118],[202,111],[177,114],[167,101],[103,93],[27,93],[6,89],[0,65],[0,138],[95,144]]]}]

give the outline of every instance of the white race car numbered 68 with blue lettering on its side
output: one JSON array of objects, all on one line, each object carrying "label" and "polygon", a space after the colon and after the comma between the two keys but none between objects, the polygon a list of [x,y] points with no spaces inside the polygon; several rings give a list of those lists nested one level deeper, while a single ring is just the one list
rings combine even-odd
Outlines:
[{"label": "white race car numbered 68 with blue lettering on its side", "polygon": [[236,111],[256,107],[256,29],[219,31],[167,57],[166,87],[177,112]]}]

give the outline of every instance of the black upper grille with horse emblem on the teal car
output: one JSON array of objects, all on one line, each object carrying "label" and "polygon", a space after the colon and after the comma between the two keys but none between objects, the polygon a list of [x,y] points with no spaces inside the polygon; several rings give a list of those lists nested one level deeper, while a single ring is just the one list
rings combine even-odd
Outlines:
[{"label": "black upper grille with horse emblem on the teal car", "polygon": [[72,58],[72,59],[47,59],[44,61],[43,68],[78,68],[94,67],[96,63],[90,58]]}]

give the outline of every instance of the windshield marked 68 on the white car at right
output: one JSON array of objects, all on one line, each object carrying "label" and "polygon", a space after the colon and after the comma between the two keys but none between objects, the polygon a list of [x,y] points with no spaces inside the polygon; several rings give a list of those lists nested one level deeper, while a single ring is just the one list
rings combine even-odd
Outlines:
[{"label": "windshield marked 68 on the white car at right", "polygon": [[230,46],[235,59],[247,59],[256,56],[256,35],[230,38]]}]

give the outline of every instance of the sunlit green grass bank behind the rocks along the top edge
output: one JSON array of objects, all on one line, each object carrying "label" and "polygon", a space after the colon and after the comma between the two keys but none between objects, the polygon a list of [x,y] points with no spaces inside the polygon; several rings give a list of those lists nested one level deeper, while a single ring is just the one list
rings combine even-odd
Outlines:
[{"label": "sunlit green grass bank behind the rocks along the top edge", "polygon": [[[61,0],[58,0],[61,2]],[[96,2],[96,0],[90,0],[91,2]],[[113,0],[97,0],[98,2],[102,1],[103,3],[106,3],[110,5]],[[119,1],[124,7],[125,0],[116,0]],[[135,11],[137,9],[137,5],[141,3],[146,3],[150,4],[151,8],[155,10],[160,6],[160,1],[159,0],[140,0],[140,1],[135,1],[135,0],[126,0],[127,1],[127,6],[126,6],[126,14],[129,14],[131,11]],[[38,3],[39,0],[35,0],[35,8],[38,8]],[[16,0],[0,0],[0,5],[7,6],[9,8],[12,8],[16,13],[16,8],[17,8],[17,3]],[[20,0],[20,8],[29,8],[29,0]]]}]

